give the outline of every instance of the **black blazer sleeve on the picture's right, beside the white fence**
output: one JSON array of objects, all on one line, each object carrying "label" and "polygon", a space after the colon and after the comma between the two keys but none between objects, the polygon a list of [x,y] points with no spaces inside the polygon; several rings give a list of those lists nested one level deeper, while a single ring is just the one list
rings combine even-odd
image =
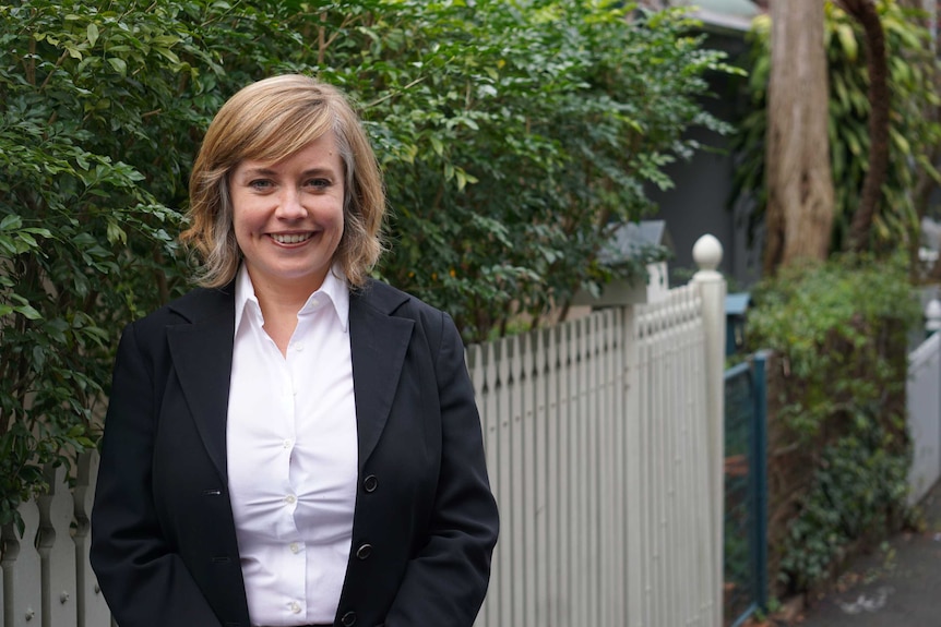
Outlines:
[{"label": "black blazer sleeve on the picture's right, beside the white fence", "polygon": [[[490,578],[499,519],[464,345],[441,314],[436,355],[442,455],[427,544],[409,562],[384,627],[470,627]],[[430,334],[429,334],[430,335]]]}]

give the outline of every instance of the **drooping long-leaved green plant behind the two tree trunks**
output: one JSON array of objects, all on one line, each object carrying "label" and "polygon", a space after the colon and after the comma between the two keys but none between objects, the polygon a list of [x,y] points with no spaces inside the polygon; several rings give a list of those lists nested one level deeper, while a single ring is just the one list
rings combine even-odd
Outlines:
[{"label": "drooping long-leaved green plant behind the two tree trunks", "polygon": [[[933,180],[939,174],[932,164],[933,147],[941,141],[941,125],[929,109],[939,106],[934,88],[938,61],[931,50],[930,33],[912,11],[895,0],[878,0],[889,56],[889,87],[892,94],[890,121],[890,165],[882,188],[880,212],[873,222],[874,251],[891,251],[918,241],[919,216],[915,197],[916,180],[924,171]],[[853,214],[859,204],[869,160],[869,100],[866,49],[860,26],[834,2],[825,3],[824,36],[830,84],[830,150],[835,184],[833,251],[843,250]],[[740,154],[736,172],[736,195],[752,197],[755,212],[751,229],[763,218],[765,190],[765,134],[767,131],[767,79],[771,71],[771,24],[767,16],[755,20],[750,34],[752,69],[748,91],[750,113],[742,120],[735,145]]]}]

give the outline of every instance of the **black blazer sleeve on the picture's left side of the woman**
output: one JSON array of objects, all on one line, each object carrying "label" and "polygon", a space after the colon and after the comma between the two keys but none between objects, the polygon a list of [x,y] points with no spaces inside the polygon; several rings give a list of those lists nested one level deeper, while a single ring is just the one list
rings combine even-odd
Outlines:
[{"label": "black blazer sleeve on the picture's left side of the woman", "polygon": [[154,360],[134,325],[115,361],[92,510],[91,563],[121,627],[219,627],[204,595],[162,533],[152,489]]}]

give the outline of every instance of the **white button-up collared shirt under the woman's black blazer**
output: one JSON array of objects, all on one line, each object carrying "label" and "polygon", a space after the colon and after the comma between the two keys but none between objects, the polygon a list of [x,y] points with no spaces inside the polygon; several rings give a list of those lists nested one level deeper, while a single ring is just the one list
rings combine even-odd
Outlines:
[{"label": "white button-up collared shirt under the woman's black blazer", "polygon": [[228,483],[252,625],[333,623],[353,533],[349,291],[327,273],[283,355],[248,270],[236,281]]}]

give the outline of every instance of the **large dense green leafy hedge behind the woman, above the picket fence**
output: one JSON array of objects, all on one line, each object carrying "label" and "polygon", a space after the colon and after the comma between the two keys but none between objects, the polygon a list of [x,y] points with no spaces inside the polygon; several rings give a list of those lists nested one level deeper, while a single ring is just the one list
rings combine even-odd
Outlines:
[{"label": "large dense green leafy hedge behind the woman, above the picket fence", "polygon": [[610,230],[688,126],[727,130],[694,26],[603,0],[0,5],[0,523],[94,444],[123,325],[188,289],[189,168],[238,88],[347,91],[386,172],[378,274],[473,341],[641,266],[598,261]]}]

